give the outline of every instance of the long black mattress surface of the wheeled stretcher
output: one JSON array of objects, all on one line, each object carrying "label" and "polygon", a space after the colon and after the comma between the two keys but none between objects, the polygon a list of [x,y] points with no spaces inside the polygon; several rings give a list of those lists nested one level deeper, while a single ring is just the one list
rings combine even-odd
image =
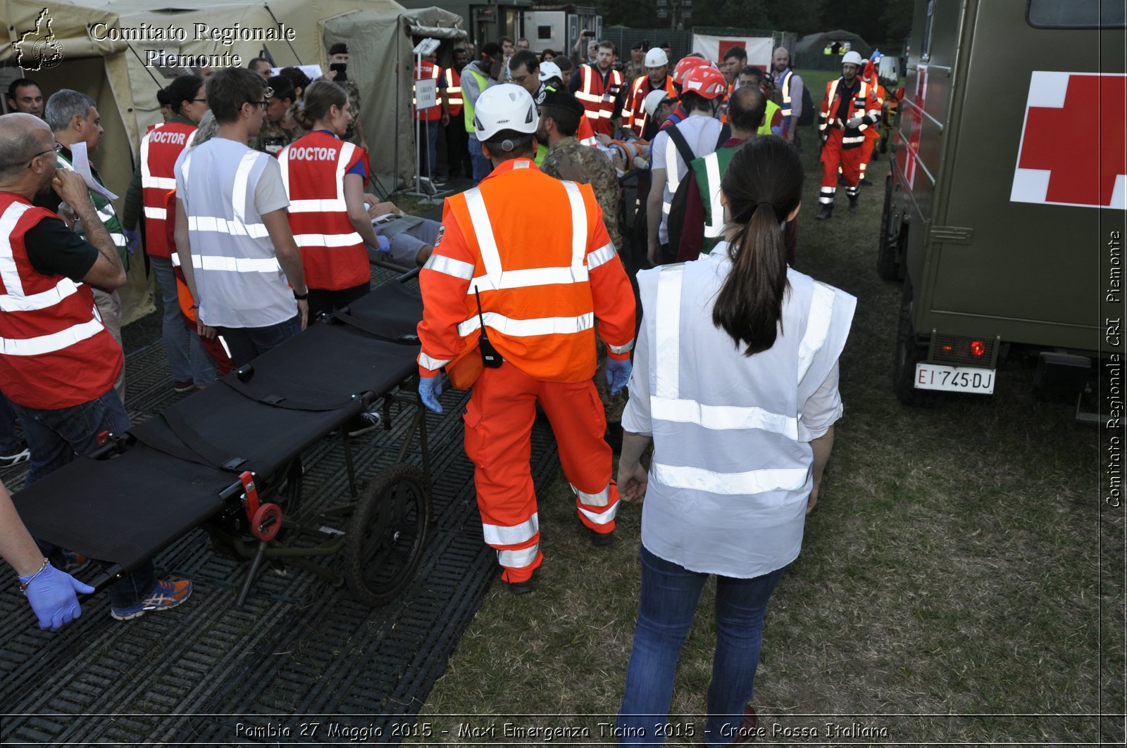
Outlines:
[{"label": "long black mattress surface of the wheeled stretcher", "polygon": [[124,454],[78,458],[19,491],[24,523],[36,537],[136,568],[220,511],[219,493],[239,473],[268,480],[364,410],[353,395],[379,395],[416,371],[416,292],[385,284],[343,317],[352,323],[318,322],[256,358],[245,381],[232,372],[134,426]]}]

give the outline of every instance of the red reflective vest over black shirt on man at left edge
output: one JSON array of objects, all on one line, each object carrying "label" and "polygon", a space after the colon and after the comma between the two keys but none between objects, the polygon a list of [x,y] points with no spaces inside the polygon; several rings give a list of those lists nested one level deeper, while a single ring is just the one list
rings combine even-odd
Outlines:
[{"label": "red reflective vest over black shirt on man at left edge", "polygon": [[27,258],[24,235],[59,216],[20,195],[0,193],[0,390],[26,408],[57,410],[109,392],[122,347],[101,323],[90,286],[43,275]]}]

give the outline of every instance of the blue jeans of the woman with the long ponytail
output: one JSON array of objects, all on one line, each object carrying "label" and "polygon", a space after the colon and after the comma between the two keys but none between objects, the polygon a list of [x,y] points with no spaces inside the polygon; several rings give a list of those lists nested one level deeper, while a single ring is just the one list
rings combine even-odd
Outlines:
[{"label": "blue jeans of the woman with the long ponytail", "polygon": [[[666,722],[677,656],[709,577],[660,559],[645,545],[640,556],[641,599],[618,720],[629,737],[621,738],[619,745],[662,741],[656,725]],[[733,741],[744,706],[752,698],[763,640],[763,613],[782,572],[778,569],[754,579],[717,577],[716,654],[704,734],[709,746],[727,746]]]}]

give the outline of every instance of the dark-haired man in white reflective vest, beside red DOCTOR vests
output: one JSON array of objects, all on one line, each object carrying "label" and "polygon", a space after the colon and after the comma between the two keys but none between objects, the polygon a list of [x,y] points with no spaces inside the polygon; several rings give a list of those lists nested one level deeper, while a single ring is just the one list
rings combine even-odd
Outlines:
[{"label": "dark-haired man in white reflective vest, beside red DOCTOR vests", "polygon": [[221,335],[236,366],[298,335],[309,313],[282,170],[247,145],[272,94],[246,68],[208,78],[218,136],[185,150],[175,169],[176,251],[199,335]]}]

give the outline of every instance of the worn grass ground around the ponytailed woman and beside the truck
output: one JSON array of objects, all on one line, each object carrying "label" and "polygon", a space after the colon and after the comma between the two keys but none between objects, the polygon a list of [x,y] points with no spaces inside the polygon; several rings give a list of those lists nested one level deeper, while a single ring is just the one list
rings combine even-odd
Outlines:
[{"label": "worn grass ground around the ponytailed woman and beside the truck", "polygon": [[[804,75],[819,99],[828,73]],[[1074,420],[1074,403],[1037,399],[1021,357],[1002,364],[992,397],[897,402],[899,287],[876,275],[886,162],[870,167],[877,186],[862,189],[858,214],[840,189],[834,217],[814,221],[820,168],[814,132],[804,135],[797,267],[859,303],[822,499],[766,616],[761,724],[828,739],[827,723],[855,722],[885,728],[870,734],[885,743],[1088,742],[1101,728],[1121,741],[1121,716],[1093,716],[1122,712],[1125,696],[1124,516],[1098,492],[1097,430]],[[420,713],[434,727],[427,741],[470,742],[456,730],[473,724],[496,727],[486,742],[513,742],[499,732],[506,720],[612,741],[598,723],[613,721],[630,654],[640,509],[622,506],[619,542],[605,549],[580,532],[562,478],[540,510],[536,591],[488,591]],[[701,742],[711,602],[710,585],[671,712],[695,736],[671,745]],[[511,719],[522,714],[541,716]]]}]

